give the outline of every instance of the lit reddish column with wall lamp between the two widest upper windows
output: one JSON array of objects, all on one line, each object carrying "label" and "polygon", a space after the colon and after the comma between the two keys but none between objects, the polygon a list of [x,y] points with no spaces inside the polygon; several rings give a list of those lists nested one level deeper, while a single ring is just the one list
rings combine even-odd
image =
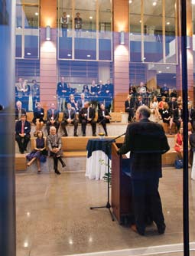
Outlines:
[{"label": "lit reddish column with wall lamp between the two widest upper windows", "polygon": [[[128,1],[113,0],[113,82],[114,111],[125,110],[129,87]],[[125,31],[125,44],[120,44],[120,32]]]}]

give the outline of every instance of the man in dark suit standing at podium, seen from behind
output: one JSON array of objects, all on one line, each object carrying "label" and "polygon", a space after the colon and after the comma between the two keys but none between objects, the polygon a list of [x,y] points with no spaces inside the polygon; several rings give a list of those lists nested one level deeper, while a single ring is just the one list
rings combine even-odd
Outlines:
[{"label": "man in dark suit standing at podium, seen from behind", "polygon": [[159,234],[164,234],[166,225],[158,192],[159,178],[162,177],[161,154],[170,148],[163,127],[148,120],[151,111],[146,106],[138,107],[137,122],[128,125],[125,141],[119,154],[131,152],[132,199],[135,225],[132,230],[145,235],[145,218],[151,215]]}]

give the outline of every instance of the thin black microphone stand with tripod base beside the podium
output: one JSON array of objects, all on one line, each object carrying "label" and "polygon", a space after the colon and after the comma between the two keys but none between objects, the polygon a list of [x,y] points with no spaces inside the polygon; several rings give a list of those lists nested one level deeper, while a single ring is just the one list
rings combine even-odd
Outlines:
[{"label": "thin black microphone stand with tripod base beside the podium", "polygon": [[[115,139],[119,139],[120,137],[122,137],[123,135],[125,135],[126,133],[122,133],[122,135],[119,135],[117,137],[115,137],[114,139],[111,139],[109,141],[106,141],[106,143],[104,143],[103,145],[106,145],[108,146],[109,148],[111,147],[111,144],[113,142],[115,142]],[[109,202],[109,185],[110,185],[110,171],[109,171],[109,156],[108,156],[108,182],[107,182],[107,202],[106,202],[106,205],[103,205],[103,206],[94,206],[94,207],[90,207],[91,210],[93,209],[98,209],[98,208],[107,208],[109,209],[109,213],[111,215],[111,218],[112,218],[112,222],[115,221],[115,217],[113,215],[113,213],[111,212],[111,205],[110,205],[110,202]]]}]

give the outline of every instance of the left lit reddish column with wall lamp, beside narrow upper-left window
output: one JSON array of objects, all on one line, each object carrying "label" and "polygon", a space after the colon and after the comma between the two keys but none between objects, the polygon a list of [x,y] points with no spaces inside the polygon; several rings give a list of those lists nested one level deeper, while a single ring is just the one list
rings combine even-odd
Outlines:
[{"label": "left lit reddish column with wall lamp, beside narrow upper-left window", "polygon": [[[57,90],[57,1],[41,0],[40,84],[41,105],[46,110],[56,102]],[[50,41],[46,27],[50,26]]]}]

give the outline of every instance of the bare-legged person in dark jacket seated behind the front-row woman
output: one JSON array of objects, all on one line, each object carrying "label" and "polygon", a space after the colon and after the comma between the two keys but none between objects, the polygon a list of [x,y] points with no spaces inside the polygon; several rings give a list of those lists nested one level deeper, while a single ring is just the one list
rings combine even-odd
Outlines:
[{"label": "bare-legged person in dark jacket seated behind the front-row woman", "polygon": [[41,107],[41,103],[37,102],[36,107],[34,109],[34,118],[32,122],[36,125],[36,131],[34,132],[34,136],[36,136],[37,131],[41,130],[44,126],[44,109]]}]

